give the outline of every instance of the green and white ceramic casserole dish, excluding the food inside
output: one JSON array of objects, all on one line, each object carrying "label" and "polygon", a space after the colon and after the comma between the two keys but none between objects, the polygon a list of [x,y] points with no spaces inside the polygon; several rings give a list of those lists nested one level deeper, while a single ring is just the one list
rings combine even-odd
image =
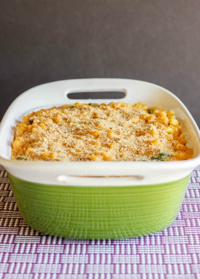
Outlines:
[{"label": "green and white ceramic casserole dish, excluding the food inside", "polygon": [[[72,104],[72,92],[123,91],[108,99],[172,109],[194,149],[186,161],[11,160],[13,126],[40,108]],[[102,103],[105,100],[76,100]],[[168,90],[129,79],[77,79],[42,84],[21,94],[0,126],[0,163],[21,215],[36,230],[67,238],[116,239],[149,235],[178,214],[193,169],[200,164],[200,131],[184,104]]]}]

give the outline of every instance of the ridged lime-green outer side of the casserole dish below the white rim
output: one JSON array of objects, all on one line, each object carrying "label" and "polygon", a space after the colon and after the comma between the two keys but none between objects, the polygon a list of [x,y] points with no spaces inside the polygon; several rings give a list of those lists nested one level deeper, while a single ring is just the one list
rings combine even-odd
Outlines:
[{"label": "ridged lime-green outer side of the casserole dish below the white rim", "polygon": [[85,187],[37,184],[9,174],[21,215],[36,230],[78,239],[149,235],[179,212],[190,176],[156,185]]}]

